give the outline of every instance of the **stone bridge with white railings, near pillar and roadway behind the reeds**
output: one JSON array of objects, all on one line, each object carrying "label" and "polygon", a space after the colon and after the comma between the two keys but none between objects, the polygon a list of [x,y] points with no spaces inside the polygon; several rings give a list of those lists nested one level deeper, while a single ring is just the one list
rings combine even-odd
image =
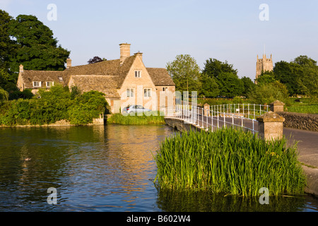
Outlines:
[{"label": "stone bridge with white railings, near pillar and roadway behind the reeds", "polygon": [[[232,104],[199,107],[197,105],[175,105],[166,107],[165,121],[179,131],[204,129],[215,131],[223,126],[243,128],[258,133],[264,139],[285,136],[291,145],[298,143],[299,160],[307,176],[305,192],[318,196],[318,153],[317,132],[300,129],[283,128],[283,120],[275,112],[283,112],[283,108],[275,109],[277,102],[269,105]],[[273,112],[271,112],[273,111]],[[259,117],[259,119],[257,119]],[[266,125],[267,124],[267,125]],[[269,135],[269,136],[267,136]]]}]

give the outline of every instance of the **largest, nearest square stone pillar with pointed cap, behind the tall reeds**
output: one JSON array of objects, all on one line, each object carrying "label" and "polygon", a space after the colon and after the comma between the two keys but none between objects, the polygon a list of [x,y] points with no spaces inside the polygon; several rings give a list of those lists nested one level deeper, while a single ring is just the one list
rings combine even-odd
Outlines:
[{"label": "largest, nearest square stone pillar with pointed cap, behind the tall reeds", "polygon": [[257,117],[257,121],[259,121],[259,137],[264,138],[265,141],[283,138],[284,117],[269,111]]}]

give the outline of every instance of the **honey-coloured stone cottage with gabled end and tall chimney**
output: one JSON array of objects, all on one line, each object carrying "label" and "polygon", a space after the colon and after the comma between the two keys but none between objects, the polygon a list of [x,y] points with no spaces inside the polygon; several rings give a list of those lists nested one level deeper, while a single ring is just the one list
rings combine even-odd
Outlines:
[{"label": "honey-coloured stone cottage with gabled end and tall chimney", "polygon": [[119,113],[128,105],[143,105],[151,110],[174,105],[175,83],[167,70],[146,68],[142,53],[131,56],[130,44],[119,47],[119,59],[81,66],[71,66],[71,59],[67,59],[64,71],[24,70],[20,65],[17,86],[34,94],[57,83],[69,88],[76,85],[82,92],[97,90],[105,93],[112,113]]}]

